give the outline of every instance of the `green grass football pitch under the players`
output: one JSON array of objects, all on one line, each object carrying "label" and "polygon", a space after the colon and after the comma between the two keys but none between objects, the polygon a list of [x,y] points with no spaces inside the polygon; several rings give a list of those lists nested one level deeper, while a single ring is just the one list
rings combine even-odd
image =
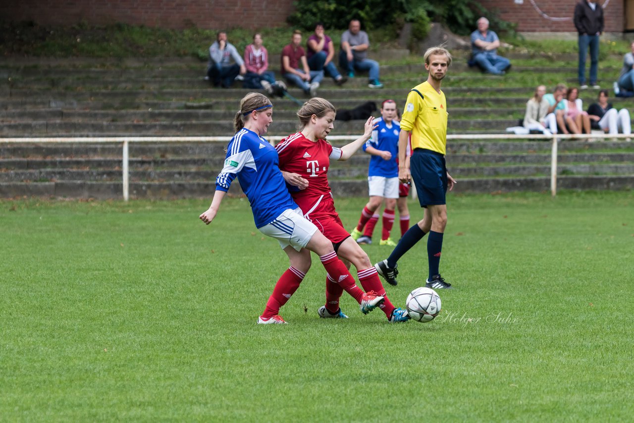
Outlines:
[{"label": "green grass football pitch under the players", "polygon": [[[337,200],[347,228],[364,202]],[[288,263],[245,199],[210,226],[207,200],[1,200],[0,420],[630,420],[634,193],[448,202],[436,320],[345,294],[350,318],[321,320],[314,257],[289,324],[263,326]],[[426,257],[399,263],[398,306]]]}]

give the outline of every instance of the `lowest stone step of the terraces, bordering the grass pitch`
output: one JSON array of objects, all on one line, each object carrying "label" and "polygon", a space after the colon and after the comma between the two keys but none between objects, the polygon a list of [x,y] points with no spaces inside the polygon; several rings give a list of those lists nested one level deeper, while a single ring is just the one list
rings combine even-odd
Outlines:
[{"label": "lowest stone step of the terraces, bordering the grass pitch", "polygon": [[[237,184],[234,184],[237,185]],[[500,193],[514,191],[548,192],[549,177],[536,178],[464,178],[456,193]],[[332,181],[332,193],[337,197],[365,197],[365,180]],[[559,190],[632,190],[634,176],[560,176]],[[216,189],[215,181],[132,182],[131,198],[210,198]],[[458,191],[459,190],[459,191]],[[231,195],[241,195],[231,186]],[[62,198],[122,198],[122,185],[117,182],[59,181],[31,183],[0,183],[0,198],[62,197]],[[245,207],[248,207],[245,204]]]}]

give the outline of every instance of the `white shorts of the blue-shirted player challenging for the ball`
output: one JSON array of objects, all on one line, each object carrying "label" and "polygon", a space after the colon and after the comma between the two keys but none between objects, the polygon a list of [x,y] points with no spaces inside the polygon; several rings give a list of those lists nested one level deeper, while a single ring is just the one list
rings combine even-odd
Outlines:
[{"label": "white shorts of the blue-shirted player challenging for the ball", "polygon": [[295,250],[300,251],[313,238],[317,226],[304,218],[302,210],[297,207],[295,210],[283,211],[271,223],[259,229],[264,235],[278,240],[281,249],[291,245]]}]

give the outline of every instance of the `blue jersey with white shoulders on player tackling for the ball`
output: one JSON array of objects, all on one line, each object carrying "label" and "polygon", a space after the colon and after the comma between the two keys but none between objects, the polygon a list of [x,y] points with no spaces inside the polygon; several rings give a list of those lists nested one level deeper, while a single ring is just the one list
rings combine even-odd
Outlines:
[{"label": "blue jersey with white shoulders on player tackling for the ball", "polygon": [[223,170],[216,178],[216,190],[228,191],[238,176],[249,198],[256,228],[271,223],[287,209],[297,209],[281,176],[277,150],[261,136],[243,128],[227,146]]}]

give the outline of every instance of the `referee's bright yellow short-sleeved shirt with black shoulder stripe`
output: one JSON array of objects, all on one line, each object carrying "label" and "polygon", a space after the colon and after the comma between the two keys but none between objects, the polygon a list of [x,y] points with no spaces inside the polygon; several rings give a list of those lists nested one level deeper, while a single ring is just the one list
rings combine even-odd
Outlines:
[{"label": "referee's bright yellow short-sleeved shirt with black shoulder stripe", "polygon": [[411,148],[427,148],[444,155],[447,116],[447,100],[443,91],[438,94],[427,81],[415,86],[407,96],[401,117],[401,130],[411,131]]}]

